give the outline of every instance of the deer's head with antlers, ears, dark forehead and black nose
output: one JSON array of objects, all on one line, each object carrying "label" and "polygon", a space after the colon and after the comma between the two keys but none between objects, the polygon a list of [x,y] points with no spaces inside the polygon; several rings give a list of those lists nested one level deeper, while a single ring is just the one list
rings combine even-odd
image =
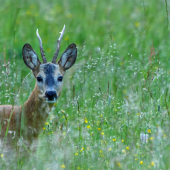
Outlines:
[{"label": "deer's head with antlers, ears, dark forehead and black nose", "polygon": [[36,87],[38,90],[38,98],[39,100],[43,100],[47,103],[55,103],[60,96],[64,73],[67,69],[73,66],[77,57],[76,45],[70,44],[61,55],[60,60],[56,63],[64,30],[65,26],[63,27],[61,35],[58,39],[57,50],[54,54],[52,62],[47,62],[42,47],[42,41],[38,34],[38,29],[37,37],[40,43],[40,52],[43,63],[40,62],[37,54],[30,44],[25,44],[22,49],[24,63],[32,70],[33,75],[37,80]]}]

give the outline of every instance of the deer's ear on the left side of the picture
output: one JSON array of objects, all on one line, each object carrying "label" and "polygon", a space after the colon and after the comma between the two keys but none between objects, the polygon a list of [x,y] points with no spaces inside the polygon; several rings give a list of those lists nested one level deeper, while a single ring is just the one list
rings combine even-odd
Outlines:
[{"label": "deer's ear on the left side of the picture", "polygon": [[30,44],[25,44],[23,46],[22,55],[25,65],[33,71],[41,64],[37,54]]}]

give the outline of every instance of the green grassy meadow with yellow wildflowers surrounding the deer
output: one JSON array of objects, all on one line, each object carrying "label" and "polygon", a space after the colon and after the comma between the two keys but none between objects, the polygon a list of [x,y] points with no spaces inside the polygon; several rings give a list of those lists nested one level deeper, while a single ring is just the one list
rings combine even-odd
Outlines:
[{"label": "green grassy meadow with yellow wildflowers surrounding the deer", "polygon": [[[1,0],[0,104],[23,104],[35,80],[22,59],[36,29],[48,61],[78,57],[30,157],[0,169],[170,169],[170,2],[167,0]],[[38,123],[38,122],[37,122]]]}]

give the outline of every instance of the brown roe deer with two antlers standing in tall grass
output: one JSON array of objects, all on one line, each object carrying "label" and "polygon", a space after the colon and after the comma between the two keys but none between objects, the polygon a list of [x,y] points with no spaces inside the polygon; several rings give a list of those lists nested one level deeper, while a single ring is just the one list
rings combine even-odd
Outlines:
[{"label": "brown roe deer with two antlers standing in tall grass", "polygon": [[0,139],[6,139],[9,146],[12,146],[14,141],[17,144],[19,139],[23,139],[29,148],[43,129],[51,108],[61,94],[65,71],[75,63],[77,57],[77,48],[73,43],[67,47],[56,63],[64,30],[65,25],[58,39],[52,62],[47,62],[45,58],[38,29],[36,34],[43,63],[40,62],[30,44],[23,46],[24,63],[32,70],[36,84],[32,94],[23,105],[0,105]]}]

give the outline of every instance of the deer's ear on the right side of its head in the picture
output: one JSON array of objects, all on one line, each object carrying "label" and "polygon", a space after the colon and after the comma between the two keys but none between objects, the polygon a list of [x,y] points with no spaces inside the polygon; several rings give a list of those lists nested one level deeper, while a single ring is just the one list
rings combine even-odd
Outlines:
[{"label": "deer's ear on the right side of its head in the picture", "polygon": [[76,45],[70,44],[67,49],[62,54],[58,64],[63,67],[64,70],[69,69],[76,61],[77,58],[77,48]]}]

